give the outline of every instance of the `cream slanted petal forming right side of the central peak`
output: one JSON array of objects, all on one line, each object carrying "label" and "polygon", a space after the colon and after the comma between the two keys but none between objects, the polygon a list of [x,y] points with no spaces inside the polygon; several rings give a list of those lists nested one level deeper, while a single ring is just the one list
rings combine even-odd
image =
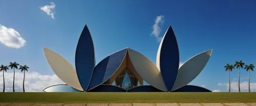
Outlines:
[{"label": "cream slanted petal forming right side of the central peak", "polygon": [[159,90],[168,91],[164,85],[161,72],[154,63],[133,49],[128,48],[128,52],[134,68],[143,80]]}]

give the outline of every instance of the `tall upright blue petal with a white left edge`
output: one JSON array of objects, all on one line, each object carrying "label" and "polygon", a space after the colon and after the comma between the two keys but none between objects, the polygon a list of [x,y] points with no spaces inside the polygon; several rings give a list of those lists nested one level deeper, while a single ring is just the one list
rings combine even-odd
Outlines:
[{"label": "tall upright blue petal with a white left edge", "polygon": [[163,76],[166,88],[170,91],[176,80],[179,70],[179,48],[172,26],[166,31],[158,52],[157,66]]}]

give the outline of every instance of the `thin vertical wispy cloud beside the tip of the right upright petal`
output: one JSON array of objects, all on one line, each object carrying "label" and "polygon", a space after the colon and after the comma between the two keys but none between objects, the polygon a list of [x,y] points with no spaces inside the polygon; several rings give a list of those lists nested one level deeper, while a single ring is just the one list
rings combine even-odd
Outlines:
[{"label": "thin vertical wispy cloud beside the tip of the right upright petal", "polygon": [[157,38],[157,41],[160,42],[162,37],[160,37],[161,28],[160,25],[163,24],[164,16],[160,15],[156,17],[155,24],[153,25],[153,31],[151,35],[154,35]]}]

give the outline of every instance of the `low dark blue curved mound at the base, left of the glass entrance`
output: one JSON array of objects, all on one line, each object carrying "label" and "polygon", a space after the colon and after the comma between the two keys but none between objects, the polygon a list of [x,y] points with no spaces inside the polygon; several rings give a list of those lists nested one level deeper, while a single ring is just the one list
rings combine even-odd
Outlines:
[{"label": "low dark blue curved mound at the base, left of the glass entrance", "polygon": [[126,92],[124,89],[112,85],[99,85],[88,92]]}]

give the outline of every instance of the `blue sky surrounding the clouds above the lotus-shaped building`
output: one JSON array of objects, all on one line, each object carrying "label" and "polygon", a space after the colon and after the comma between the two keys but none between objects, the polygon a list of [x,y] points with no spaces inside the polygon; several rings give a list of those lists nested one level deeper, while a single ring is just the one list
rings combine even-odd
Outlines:
[{"label": "blue sky surrounding the clouds above the lotus-shaped building", "polygon": [[[55,4],[54,18],[40,9],[51,2]],[[76,44],[84,24],[88,24],[93,37],[96,63],[125,47],[156,62],[159,42],[152,35],[153,24],[157,16],[163,16],[159,37],[172,25],[181,62],[213,49],[206,67],[191,84],[227,91],[226,63],[243,60],[256,64],[255,5],[253,0],[0,1],[0,24],[14,29],[26,41],[20,48],[1,43],[0,64],[17,61],[29,65],[31,72],[53,75],[42,49],[48,47],[75,66]],[[247,76],[248,72],[242,70],[241,82],[245,86]],[[236,84],[238,70],[230,77]],[[251,83],[256,91],[256,72],[251,72]],[[232,87],[233,91],[236,87]]]}]

